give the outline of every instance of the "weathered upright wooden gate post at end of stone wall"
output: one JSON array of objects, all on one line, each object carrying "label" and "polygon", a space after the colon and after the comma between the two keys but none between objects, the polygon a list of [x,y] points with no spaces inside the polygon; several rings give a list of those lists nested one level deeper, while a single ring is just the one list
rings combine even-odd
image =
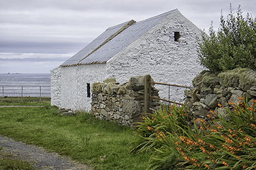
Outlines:
[{"label": "weathered upright wooden gate post at end of stone wall", "polygon": [[150,108],[149,96],[151,95],[151,88],[150,88],[151,85],[149,81],[150,81],[150,75],[147,74],[145,75],[145,78],[144,78],[144,98],[145,98],[144,113],[149,113],[149,108]]}]

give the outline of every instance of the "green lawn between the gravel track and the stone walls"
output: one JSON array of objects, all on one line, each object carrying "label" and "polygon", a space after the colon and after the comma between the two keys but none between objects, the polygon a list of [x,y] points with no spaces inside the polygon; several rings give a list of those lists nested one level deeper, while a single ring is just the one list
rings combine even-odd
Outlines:
[{"label": "green lawn between the gravel track and the stone walls", "polygon": [[67,155],[94,169],[146,169],[150,153],[130,153],[133,129],[87,113],[61,117],[57,107],[44,106],[0,108],[0,134]]}]

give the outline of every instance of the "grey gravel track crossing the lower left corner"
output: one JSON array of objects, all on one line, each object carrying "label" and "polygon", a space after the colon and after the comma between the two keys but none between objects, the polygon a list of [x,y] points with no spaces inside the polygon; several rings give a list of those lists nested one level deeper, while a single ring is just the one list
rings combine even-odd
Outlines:
[{"label": "grey gravel track crossing the lower left corner", "polygon": [[19,141],[0,136],[0,159],[1,155],[11,154],[13,159],[22,159],[29,162],[36,169],[42,170],[92,170],[84,164],[79,164],[68,157],[62,157],[58,153],[46,152],[44,148],[35,145],[26,145]]}]

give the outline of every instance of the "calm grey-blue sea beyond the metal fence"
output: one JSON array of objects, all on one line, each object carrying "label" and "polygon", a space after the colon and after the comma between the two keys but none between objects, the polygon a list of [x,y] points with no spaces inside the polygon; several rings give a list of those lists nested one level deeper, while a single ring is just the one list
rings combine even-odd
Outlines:
[{"label": "calm grey-blue sea beyond the metal fence", "polygon": [[51,74],[0,74],[0,97],[51,97]]}]

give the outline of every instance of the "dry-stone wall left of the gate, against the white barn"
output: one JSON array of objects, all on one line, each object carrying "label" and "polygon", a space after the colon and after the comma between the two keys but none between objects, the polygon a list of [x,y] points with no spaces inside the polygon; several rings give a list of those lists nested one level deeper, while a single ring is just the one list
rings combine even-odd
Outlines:
[{"label": "dry-stone wall left of the gate, against the white barn", "polygon": [[[130,127],[141,122],[145,103],[144,77],[132,77],[129,82],[121,85],[115,78],[93,83],[90,114],[100,120],[112,120]],[[153,85],[151,89],[152,96],[159,97]],[[154,100],[152,105],[156,108],[159,101]]]}]

